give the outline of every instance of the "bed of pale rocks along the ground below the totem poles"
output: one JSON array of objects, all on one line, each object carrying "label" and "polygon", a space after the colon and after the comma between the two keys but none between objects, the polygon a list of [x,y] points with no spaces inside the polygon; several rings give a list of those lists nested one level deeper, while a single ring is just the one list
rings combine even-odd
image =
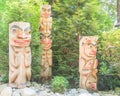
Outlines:
[{"label": "bed of pale rocks along the ground below the totem poles", "polygon": [[[26,87],[23,89],[16,89],[7,87],[7,84],[0,85],[0,96],[120,96],[119,88],[116,88],[116,93],[112,91],[99,91],[94,93],[89,93],[85,89],[68,89],[64,93],[54,93],[49,85],[40,85],[33,83],[31,87]],[[119,94],[119,95],[118,95]]]}]

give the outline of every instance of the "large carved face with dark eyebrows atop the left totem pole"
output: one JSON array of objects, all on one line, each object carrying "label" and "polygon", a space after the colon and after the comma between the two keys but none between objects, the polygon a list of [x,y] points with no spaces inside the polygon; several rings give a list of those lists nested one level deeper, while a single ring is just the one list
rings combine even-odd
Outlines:
[{"label": "large carved face with dark eyebrows atop the left totem pole", "polygon": [[9,25],[9,42],[12,46],[29,46],[31,40],[30,24],[27,22],[13,22]]}]

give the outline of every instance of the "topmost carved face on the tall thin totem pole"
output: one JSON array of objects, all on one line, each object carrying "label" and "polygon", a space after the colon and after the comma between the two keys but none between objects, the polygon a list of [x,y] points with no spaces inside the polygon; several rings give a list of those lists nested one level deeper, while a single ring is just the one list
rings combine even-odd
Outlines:
[{"label": "topmost carved face on the tall thin totem pole", "polygon": [[50,5],[43,5],[41,7],[41,15],[42,17],[48,18],[51,15],[51,6]]}]

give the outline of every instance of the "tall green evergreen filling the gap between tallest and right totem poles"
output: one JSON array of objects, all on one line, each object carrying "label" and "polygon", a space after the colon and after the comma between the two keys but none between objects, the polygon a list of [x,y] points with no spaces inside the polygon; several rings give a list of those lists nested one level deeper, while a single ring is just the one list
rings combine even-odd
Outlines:
[{"label": "tall green evergreen filling the gap between tallest and right totem poles", "polygon": [[[97,0],[56,0],[52,4],[53,75],[65,76],[72,87],[78,87],[78,36],[100,35],[111,28],[111,21]],[[109,26],[104,27],[106,24]]]}]

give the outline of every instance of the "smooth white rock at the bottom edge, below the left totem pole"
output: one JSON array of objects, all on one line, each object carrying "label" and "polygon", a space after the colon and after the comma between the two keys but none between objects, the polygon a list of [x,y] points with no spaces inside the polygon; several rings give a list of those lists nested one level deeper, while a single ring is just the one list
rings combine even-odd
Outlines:
[{"label": "smooth white rock at the bottom edge, below the left totem pole", "polygon": [[21,89],[21,96],[36,96],[36,92],[31,88]]}]

